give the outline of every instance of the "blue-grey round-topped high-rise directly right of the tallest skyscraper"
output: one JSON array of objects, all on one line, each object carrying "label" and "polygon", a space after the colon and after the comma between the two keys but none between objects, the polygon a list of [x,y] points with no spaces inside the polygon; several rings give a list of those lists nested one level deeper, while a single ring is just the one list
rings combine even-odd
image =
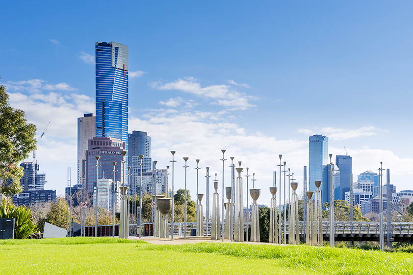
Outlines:
[{"label": "blue-grey round-topped high-rise directly right of the tallest skyscraper", "polygon": [[[152,159],[150,157],[151,138],[148,133],[141,131],[132,131],[132,134],[128,134],[128,163],[131,166],[131,193],[135,191],[140,194],[140,185],[136,184],[136,177],[141,172],[141,159],[139,155],[142,155],[142,171],[145,173],[152,169]],[[143,180],[142,180],[143,181]],[[136,185],[136,187],[135,187]]]}]

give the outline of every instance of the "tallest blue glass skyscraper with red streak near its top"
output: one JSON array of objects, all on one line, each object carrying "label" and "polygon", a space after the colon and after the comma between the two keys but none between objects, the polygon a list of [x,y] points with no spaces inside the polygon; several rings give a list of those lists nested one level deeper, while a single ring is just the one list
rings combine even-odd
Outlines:
[{"label": "tallest blue glass skyscraper with red streak near its top", "polygon": [[120,139],[127,149],[128,47],[96,42],[96,136]]}]

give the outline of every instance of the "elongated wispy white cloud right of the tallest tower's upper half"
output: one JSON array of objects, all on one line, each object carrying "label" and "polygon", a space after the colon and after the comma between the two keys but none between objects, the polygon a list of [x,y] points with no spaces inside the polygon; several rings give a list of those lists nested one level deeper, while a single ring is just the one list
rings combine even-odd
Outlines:
[{"label": "elongated wispy white cloud right of the tallest tower's upper half", "polygon": [[152,82],[150,83],[150,86],[159,90],[181,90],[199,97],[213,99],[216,101],[211,104],[227,107],[228,110],[245,110],[247,108],[256,107],[256,105],[252,105],[248,101],[258,100],[257,97],[248,96],[244,93],[239,93],[236,90],[231,90],[228,85],[221,84],[201,87],[201,84],[193,77],[178,79],[166,84]]}]

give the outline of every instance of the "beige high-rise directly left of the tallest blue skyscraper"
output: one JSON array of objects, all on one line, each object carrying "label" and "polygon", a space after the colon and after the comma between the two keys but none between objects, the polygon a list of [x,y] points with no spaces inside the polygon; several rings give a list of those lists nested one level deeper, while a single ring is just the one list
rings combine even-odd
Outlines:
[{"label": "beige high-rise directly left of the tallest blue skyscraper", "polygon": [[84,114],[78,118],[78,185],[82,184],[82,161],[86,160],[88,140],[96,136],[96,116]]}]

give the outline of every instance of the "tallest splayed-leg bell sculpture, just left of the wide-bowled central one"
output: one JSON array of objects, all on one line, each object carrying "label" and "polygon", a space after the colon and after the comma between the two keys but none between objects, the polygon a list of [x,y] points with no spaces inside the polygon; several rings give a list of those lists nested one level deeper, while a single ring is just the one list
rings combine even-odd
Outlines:
[{"label": "tallest splayed-leg bell sculpture, just left of the wide-bowled central one", "polygon": [[235,217],[234,217],[234,241],[244,241],[244,197],[242,195],[241,162],[237,167],[238,177],[235,186]]}]

